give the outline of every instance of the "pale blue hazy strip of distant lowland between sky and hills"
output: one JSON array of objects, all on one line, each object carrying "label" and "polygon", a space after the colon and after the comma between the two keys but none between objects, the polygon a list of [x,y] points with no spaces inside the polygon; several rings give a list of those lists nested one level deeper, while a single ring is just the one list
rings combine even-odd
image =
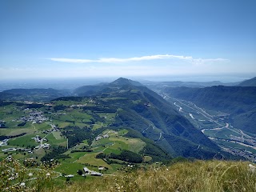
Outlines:
[{"label": "pale blue hazy strip of distant lowland between sky and hills", "polygon": [[37,78],[37,79],[5,79],[0,82],[0,92],[10,89],[32,89],[32,88],[52,88],[57,90],[74,90],[79,86],[96,85],[98,83],[113,82],[117,78],[129,78],[134,81],[146,82],[214,82],[223,83],[242,82],[250,79],[246,76],[194,76],[194,77],[112,77],[112,78]]}]

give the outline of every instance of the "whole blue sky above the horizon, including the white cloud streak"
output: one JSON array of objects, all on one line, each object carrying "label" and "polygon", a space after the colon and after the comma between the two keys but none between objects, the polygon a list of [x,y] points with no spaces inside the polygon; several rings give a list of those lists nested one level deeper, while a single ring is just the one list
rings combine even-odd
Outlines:
[{"label": "whole blue sky above the horizon, including the white cloud streak", "polygon": [[0,79],[256,76],[256,1],[0,1]]}]

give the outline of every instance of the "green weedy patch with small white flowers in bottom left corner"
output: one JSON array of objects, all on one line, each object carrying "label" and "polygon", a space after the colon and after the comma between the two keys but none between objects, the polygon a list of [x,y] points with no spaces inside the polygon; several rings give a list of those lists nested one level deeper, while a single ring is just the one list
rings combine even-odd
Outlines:
[{"label": "green weedy patch with small white flowers in bottom left corner", "polygon": [[[27,159],[27,164],[31,161]],[[25,167],[14,158],[6,158],[0,162],[0,191],[8,192],[34,192],[51,190],[53,186],[60,185],[55,178],[60,173],[53,171],[51,166]]]}]

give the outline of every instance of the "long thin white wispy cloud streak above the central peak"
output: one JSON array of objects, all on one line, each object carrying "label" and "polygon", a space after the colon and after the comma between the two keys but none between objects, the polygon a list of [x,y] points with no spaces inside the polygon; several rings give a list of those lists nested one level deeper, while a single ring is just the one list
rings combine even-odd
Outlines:
[{"label": "long thin white wispy cloud streak above the central peak", "polygon": [[98,59],[77,59],[77,58],[47,58],[54,62],[69,62],[69,63],[122,63],[122,62],[140,62],[158,59],[180,59],[192,62],[196,65],[204,64],[206,62],[229,62],[225,58],[193,58],[190,56],[173,55],[173,54],[155,54],[134,58],[98,58]]}]

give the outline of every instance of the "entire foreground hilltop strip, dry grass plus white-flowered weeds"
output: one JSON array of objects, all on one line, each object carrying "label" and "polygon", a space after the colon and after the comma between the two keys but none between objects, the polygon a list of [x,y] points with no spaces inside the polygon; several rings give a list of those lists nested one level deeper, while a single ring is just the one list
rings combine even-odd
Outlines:
[{"label": "entire foreground hilltop strip, dry grass plus white-flowered weeds", "polygon": [[[2,191],[255,191],[256,166],[250,162],[171,162],[169,166],[130,167],[103,177],[74,172],[65,178],[49,166],[26,168],[15,160],[0,163]],[[73,169],[81,167],[73,166]],[[14,176],[12,176],[14,175]],[[8,179],[11,178],[11,179]]]}]

